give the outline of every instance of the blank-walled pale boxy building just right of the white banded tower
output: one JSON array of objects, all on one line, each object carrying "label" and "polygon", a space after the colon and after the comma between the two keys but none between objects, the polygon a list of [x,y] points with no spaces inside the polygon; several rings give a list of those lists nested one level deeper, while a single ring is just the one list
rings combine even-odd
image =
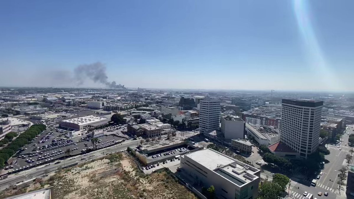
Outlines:
[{"label": "blank-walled pale boxy building just right of the white banded tower", "polygon": [[225,139],[244,139],[245,122],[234,115],[224,115],[221,117],[221,132]]}]

